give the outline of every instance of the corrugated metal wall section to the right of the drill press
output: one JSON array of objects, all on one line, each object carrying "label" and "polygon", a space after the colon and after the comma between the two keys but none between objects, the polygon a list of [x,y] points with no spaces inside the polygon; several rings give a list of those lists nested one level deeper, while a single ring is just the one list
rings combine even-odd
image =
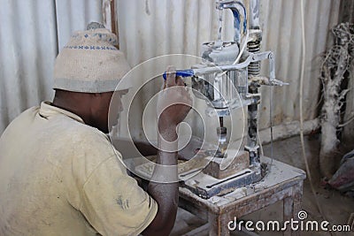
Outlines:
[{"label": "corrugated metal wall section to the right of the drill press", "polygon": [[[318,116],[319,65],[327,49],[329,29],[337,24],[340,1],[304,1],[305,48],[302,51],[300,1],[270,0],[261,2],[264,49],[275,53],[276,76],[289,86],[275,88],[273,93],[275,124],[299,120],[299,82],[301,63],[304,67],[304,120]],[[264,102],[268,97],[264,97]],[[267,110],[266,103],[262,103]],[[262,127],[269,126],[268,116],[260,119]]]}]

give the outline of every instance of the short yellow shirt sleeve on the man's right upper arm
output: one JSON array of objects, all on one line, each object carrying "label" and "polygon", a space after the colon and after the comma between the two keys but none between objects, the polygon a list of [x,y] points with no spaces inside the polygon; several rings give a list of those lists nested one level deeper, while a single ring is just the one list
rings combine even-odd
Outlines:
[{"label": "short yellow shirt sleeve on the man's right upper arm", "polygon": [[103,235],[137,235],[158,211],[155,200],[123,170],[112,156],[97,166],[81,190],[81,213]]}]

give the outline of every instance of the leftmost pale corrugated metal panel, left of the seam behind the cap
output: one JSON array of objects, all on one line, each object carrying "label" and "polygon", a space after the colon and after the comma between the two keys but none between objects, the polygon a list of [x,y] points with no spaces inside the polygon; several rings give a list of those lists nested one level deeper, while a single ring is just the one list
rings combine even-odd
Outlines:
[{"label": "leftmost pale corrugated metal panel, left of the seam behind the cap", "polygon": [[3,133],[21,111],[51,98],[51,71],[58,47],[54,1],[0,2],[0,133]]}]

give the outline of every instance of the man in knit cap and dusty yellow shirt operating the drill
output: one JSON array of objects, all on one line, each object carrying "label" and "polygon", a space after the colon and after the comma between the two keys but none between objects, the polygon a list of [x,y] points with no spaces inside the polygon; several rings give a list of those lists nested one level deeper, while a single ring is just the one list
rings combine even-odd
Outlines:
[{"label": "man in knit cap and dusty yellow shirt operating the drill", "polygon": [[[116,40],[92,25],[74,34],[56,59],[53,102],[24,111],[2,134],[0,235],[167,235],[173,228],[178,184],[150,182],[144,192],[105,134],[113,92],[129,70]],[[181,88],[169,70],[167,88]],[[158,119],[161,148],[176,141],[190,109],[186,90],[173,91],[165,97],[179,104]],[[157,159],[177,164],[175,151],[158,150]]]}]

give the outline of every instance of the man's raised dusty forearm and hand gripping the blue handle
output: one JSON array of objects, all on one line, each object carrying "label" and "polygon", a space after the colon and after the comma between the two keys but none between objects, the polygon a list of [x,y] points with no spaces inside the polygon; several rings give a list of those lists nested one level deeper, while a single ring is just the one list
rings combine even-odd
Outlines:
[{"label": "man's raised dusty forearm and hand gripping the blue handle", "polygon": [[[168,235],[174,225],[178,208],[177,181],[177,133],[176,127],[187,116],[191,108],[191,98],[184,88],[181,78],[176,78],[174,69],[169,68],[166,80],[167,91],[162,91],[161,113],[158,118],[157,163],[169,167],[156,166],[153,178],[174,179],[169,183],[150,181],[148,192],[158,202],[158,213],[143,235]],[[162,104],[161,104],[162,103]],[[159,108],[158,108],[159,110]]]}]

